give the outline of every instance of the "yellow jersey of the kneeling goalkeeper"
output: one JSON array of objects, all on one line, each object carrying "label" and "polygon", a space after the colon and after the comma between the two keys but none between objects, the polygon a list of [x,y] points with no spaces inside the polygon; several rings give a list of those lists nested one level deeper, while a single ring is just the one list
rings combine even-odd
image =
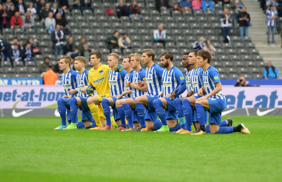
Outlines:
[{"label": "yellow jersey of the kneeling goalkeeper", "polygon": [[96,88],[98,94],[110,94],[108,65],[100,64],[98,69],[91,68],[88,73],[88,85]]}]

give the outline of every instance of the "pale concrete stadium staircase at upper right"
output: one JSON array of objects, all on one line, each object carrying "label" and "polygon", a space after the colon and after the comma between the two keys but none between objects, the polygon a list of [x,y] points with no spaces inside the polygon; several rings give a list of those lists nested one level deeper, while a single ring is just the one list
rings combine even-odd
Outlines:
[{"label": "pale concrete stadium staircase at upper right", "polygon": [[282,74],[282,48],[280,34],[275,35],[276,45],[268,45],[267,25],[265,23],[266,14],[263,14],[261,8],[259,8],[259,2],[255,0],[244,0],[244,5],[251,17],[252,27],[249,28],[249,36],[252,38],[252,42],[255,44],[259,54],[263,57],[264,62],[270,60],[272,65],[278,69],[280,74]]}]

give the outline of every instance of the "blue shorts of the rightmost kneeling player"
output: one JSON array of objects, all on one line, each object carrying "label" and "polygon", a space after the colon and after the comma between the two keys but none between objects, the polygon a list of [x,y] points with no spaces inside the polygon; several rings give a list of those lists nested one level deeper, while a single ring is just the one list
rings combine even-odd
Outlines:
[{"label": "blue shorts of the rightmost kneeling player", "polygon": [[220,126],[221,112],[226,108],[225,99],[207,99],[210,104],[210,118],[209,124],[214,123]]}]

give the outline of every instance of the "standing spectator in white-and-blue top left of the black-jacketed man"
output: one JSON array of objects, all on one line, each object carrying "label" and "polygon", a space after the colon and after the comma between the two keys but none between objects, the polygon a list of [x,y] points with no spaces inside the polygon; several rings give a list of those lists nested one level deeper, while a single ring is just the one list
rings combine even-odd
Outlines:
[{"label": "standing spectator in white-and-blue top left of the black-jacketed man", "polygon": [[224,43],[230,42],[229,32],[231,27],[231,15],[229,14],[228,8],[224,8],[223,14],[220,16],[221,22],[221,33],[223,36]]}]

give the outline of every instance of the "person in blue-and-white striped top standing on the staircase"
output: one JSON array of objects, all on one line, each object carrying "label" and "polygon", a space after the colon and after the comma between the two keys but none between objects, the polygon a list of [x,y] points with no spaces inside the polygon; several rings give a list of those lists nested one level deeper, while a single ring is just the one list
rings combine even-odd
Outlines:
[{"label": "person in blue-and-white striped top standing on the staircase", "polygon": [[269,44],[270,32],[272,33],[272,44],[275,44],[274,35],[276,28],[277,12],[274,11],[274,6],[270,5],[270,9],[266,13],[266,24],[267,24],[267,43]]}]

